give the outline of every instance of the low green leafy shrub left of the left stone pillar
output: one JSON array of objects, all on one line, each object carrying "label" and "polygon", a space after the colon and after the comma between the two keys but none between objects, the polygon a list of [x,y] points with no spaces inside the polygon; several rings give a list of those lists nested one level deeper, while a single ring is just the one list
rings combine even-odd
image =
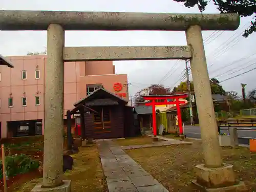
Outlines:
[{"label": "low green leafy shrub left of the left stone pillar", "polygon": [[[19,174],[25,174],[31,170],[35,170],[39,166],[38,161],[30,159],[24,154],[7,156],[5,159],[6,172],[8,177]],[[0,161],[0,179],[3,178],[3,164]]]}]

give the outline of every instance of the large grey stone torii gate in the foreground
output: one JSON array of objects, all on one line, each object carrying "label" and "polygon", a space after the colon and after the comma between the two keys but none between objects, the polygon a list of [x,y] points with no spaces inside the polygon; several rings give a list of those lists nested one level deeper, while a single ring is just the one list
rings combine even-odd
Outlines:
[{"label": "large grey stone torii gate in the foreground", "polygon": [[[239,24],[237,14],[1,10],[0,30],[48,31],[44,178],[33,191],[54,187],[55,191],[70,191],[70,181],[62,181],[63,62],[142,59],[190,59],[205,162],[196,166],[194,183],[207,188],[243,188],[243,183],[235,181],[233,166],[222,162],[202,39],[202,30],[236,30]],[[65,47],[65,30],[185,31],[187,46]]]}]

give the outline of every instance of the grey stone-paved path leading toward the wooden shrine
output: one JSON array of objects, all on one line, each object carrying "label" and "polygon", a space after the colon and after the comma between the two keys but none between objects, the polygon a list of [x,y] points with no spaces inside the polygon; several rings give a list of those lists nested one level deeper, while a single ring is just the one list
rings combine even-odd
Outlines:
[{"label": "grey stone-paved path leading toward the wooden shrine", "polygon": [[168,192],[111,140],[98,140],[97,146],[109,192]]}]

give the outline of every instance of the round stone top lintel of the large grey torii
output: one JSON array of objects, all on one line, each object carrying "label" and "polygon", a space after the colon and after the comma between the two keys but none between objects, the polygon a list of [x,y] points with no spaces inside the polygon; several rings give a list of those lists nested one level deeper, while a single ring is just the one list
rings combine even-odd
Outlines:
[{"label": "round stone top lintel of the large grey torii", "polygon": [[191,25],[202,30],[236,30],[238,14],[172,14],[129,12],[13,11],[0,10],[0,30],[47,30],[59,24],[64,30],[170,30]]}]

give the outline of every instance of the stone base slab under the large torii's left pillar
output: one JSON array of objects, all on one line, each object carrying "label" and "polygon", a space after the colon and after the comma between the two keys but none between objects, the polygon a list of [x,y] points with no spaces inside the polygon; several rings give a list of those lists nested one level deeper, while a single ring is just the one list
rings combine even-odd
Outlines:
[{"label": "stone base slab under the large torii's left pillar", "polygon": [[31,192],[71,192],[71,181],[63,180],[63,184],[57,187],[42,188],[41,184],[37,184]]}]

